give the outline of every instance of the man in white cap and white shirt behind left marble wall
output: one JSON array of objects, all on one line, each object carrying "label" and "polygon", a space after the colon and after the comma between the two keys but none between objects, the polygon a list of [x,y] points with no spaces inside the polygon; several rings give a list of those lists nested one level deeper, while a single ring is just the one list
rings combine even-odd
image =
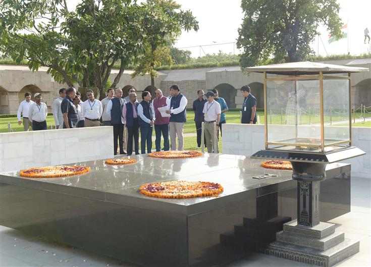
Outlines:
[{"label": "man in white cap and white shirt behind left marble wall", "polygon": [[28,119],[32,122],[32,131],[46,130],[47,106],[41,102],[40,93],[35,93],[33,98],[35,102],[30,106],[28,113]]}]

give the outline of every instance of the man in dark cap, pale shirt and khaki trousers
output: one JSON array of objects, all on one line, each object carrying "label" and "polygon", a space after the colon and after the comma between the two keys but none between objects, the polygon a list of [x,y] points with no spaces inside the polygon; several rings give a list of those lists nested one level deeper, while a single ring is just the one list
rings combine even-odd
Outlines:
[{"label": "man in dark cap, pale shirt and khaki trousers", "polygon": [[[218,131],[220,116],[222,114],[220,104],[214,100],[214,92],[208,91],[206,94],[207,102],[203,106],[202,113],[204,114],[204,132],[206,139],[207,152],[213,152],[213,144],[218,143],[216,132]],[[216,128],[214,123],[217,123]],[[217,146],[218,147],[218,146]],[[219,148],[214,153],[219,153]]]}]

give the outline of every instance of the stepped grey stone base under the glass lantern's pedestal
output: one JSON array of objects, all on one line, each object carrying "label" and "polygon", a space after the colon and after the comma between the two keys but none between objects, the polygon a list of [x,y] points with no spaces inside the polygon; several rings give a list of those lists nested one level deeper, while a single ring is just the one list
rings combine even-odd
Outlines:
[{"label": "stepped grey stone base under the glass lantern's pedestal", "polygon": [[259,252],[325,267],[359,252],[359,241],[344,238],[344,233],[335,232],[335,225],[330,223],[303,227],[294,220],[284,224],[276,239]]}]

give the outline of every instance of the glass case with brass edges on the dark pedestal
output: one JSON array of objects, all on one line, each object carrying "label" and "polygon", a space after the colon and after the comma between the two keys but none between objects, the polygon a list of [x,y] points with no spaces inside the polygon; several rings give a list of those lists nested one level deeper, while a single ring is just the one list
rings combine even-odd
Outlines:
[{"label": "glass case with brass edges on the dark pedestal", "polygon": [[320,152],[351,145],[348,73],[263,75],[266,149]]}]

